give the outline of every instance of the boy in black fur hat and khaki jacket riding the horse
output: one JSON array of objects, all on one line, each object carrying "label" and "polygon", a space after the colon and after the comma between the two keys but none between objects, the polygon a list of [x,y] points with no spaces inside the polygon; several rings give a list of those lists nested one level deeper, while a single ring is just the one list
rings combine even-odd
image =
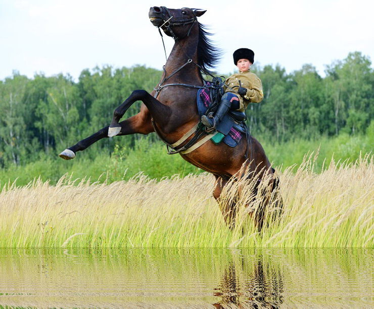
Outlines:
[{"label": "boy in black fur hat and khaki jacket riding the horse", "polygon": [[255,56],[253,50],[239,48],[232,56],[239,73],[226,79],[223,87],[225,93],[215,115],[201,117],[202,123],[209,129],[215,128],[229,109],[244,112],[250,102],[259,103],[264,97],[261,80],[250,72]]}]

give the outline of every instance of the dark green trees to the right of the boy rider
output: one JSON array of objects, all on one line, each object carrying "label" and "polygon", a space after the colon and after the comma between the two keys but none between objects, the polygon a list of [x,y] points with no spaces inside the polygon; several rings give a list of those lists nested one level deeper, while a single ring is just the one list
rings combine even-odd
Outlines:
[{"label": "dark green trees to the right of the boy rider", "polygon": [[359,52],[326,66],[323,79],[312,65],[290,75],[279,66],[256,69],[264,88],[261,104],[249,107],[256,133],[277,141],[341,131],[353,135],[365,132],[373,119],[374,71]]}]

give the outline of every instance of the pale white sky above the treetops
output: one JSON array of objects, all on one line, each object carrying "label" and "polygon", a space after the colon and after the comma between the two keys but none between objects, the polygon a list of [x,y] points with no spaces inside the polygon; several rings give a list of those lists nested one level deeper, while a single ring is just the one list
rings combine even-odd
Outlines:
[{"label": "pale white sky above the treetops", "polygon": [[[14,70],[75,80],[83,69],[104,65],[161,70],[152,6],[207,10],[198,20],[223,51],[215,68],[222,74],[236,71],[232,53],[240,47],[253,49],[261,67],[279,64],[288,73],[312,64],[324,76],[325,65],[355,51],[374,61],[371,0],[0,0],[0,80]],[[164,40],[169,53],[173,40]]]}]

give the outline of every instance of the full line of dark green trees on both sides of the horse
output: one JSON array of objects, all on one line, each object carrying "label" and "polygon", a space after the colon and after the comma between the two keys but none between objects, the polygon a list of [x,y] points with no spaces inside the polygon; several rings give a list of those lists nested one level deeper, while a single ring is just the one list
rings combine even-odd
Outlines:
[{"label": "full line of dark green trees on both sides of the horse", "polygon": [[[363,134],[373,119],[374,71],[359,52],[326,66],[323,78],[309,64],[290,74],[279,65],[253,66],[253,71],[264,89],[263,101],[247,108],[253,134],[279,142]],[[85,69],[74,81],[70,75],[30,79],[14,72],[0,81],[0,167],[32,162],[40,152],[55,155],[107,126],[133,90],[152,91],[161,74],[144,66],[104,66]],[[138,113],[140,104],[131,106],[125,117]],[[121,144],[132,147],[138,138],[122,137]],[[104,139],[95,149],[109,153],[114,145],[114,139]]]}]

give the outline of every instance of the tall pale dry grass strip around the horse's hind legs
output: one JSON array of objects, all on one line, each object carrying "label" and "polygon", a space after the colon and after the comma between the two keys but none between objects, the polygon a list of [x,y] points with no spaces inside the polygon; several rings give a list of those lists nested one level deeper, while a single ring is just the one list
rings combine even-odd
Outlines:
[{"label": "tall pale dry grass strip around the horse's hind legs", "polygon": [[[230,231],[212,197],[209,174],[155,181],[139,174],[111,184],[60,179],[56,186],[34,180],[8,184],[0,193],[1,247],[276,246],[373,245],[374,162],[335,163],[313,172],[315,156],[279,174],[283,213],[273,202],[258,233],[249,211],[251,183],[240,188],[239,213]],[[263,181],[262,183],[265,183]],[[261,190],[260,190],[261,191]],[[230,193],[231,192],[231,193]]]}]

